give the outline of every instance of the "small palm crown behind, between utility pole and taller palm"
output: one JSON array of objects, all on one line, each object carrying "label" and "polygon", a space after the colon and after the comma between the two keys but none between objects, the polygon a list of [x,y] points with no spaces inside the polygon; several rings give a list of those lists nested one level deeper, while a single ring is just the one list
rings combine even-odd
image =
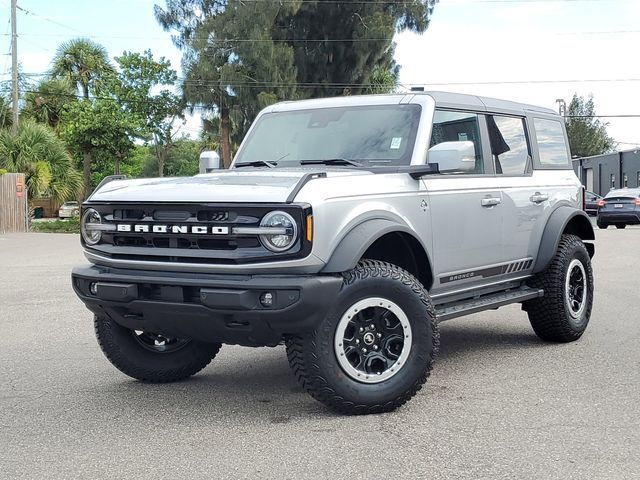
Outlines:
[{"label": "small palm crown behind, between utility pole and taller palm", "polygon": [[60,123],[63,108],[75,101],[74,85],[68,78],[46,78],[25,95],[22,115],[39,123],[46,123],[55,130]]}]

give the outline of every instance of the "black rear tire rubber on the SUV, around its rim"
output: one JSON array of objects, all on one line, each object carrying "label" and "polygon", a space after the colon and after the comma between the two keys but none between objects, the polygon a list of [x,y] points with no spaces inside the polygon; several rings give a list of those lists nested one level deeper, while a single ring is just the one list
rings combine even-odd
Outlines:
[{"label": "black rear tire rubber on the SUV, around its rim", "polygon": [[[585,308],[579,318],[573,318],[567,306],[565,280],[572,260],[582,263],[586,273]],[[589,253],[576,235],[562,235],[558,250],[547,269],[529,282],[544,290],[544,296],[524,303],[536,335],[551,342],[573,342],[584,333],[593,305],[593,270]]]}]

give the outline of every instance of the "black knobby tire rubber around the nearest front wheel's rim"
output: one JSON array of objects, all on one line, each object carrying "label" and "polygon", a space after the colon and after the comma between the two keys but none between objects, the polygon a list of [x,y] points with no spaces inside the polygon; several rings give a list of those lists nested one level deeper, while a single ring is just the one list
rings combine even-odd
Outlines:
[{"label": "black knobby tire rubber around the nearest front wheel's rim", "polygon": [[[289,364],[302,387],[334,411],[361,415],[395,410],[422,388],[433,367],[440,343],[433,305],[422,284],[395,265],[363,260],[343,277],[333,309],[316,330],[286,339]],[[370,297],[395,302],[412,331],[411,349],[402,369],[375,384],[347,375],[334,347],[336,329],[346,310]]]}]

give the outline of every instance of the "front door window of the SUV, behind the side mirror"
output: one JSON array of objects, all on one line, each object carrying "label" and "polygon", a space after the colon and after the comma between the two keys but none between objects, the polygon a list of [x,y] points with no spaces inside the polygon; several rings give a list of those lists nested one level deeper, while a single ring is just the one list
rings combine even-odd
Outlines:
[{"label": "front door window of the SUV, behind the side mirror", "polygon": [[[467,142],[467,151],[475,157],[475,164],[473,164],[473,157],[470,157],[469,164],[471,164],[470,167],[472,168],[465,168],[464,171],[460,170],[447,173],[466,173],[471,175],[485,173],[484,159],[482,157],[482,143],[480,142],[478,114],[436,110],[433,116],[433,129],[429,148],[440,145],[441,149],[446,149],[448,145],[444,144],[449,142],[458,142],[455,145],[451,144],[452,147],[456,148],[465,148],[465,145],[460,142]],[[470,144],[473,144],[473,152],[471,152]],[[441,154],[442,151],[438,153]],[[430,154],[429,161],[432,161],[432,157],[435,156],[435,153]]]}]

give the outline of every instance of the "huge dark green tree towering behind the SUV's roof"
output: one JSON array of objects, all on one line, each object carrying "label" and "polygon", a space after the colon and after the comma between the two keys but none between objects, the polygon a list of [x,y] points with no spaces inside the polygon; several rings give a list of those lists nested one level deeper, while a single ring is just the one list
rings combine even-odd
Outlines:
[{"label": "huge dark green tree towering behind the SUV's roof", "polygon": [[225,166],[232,128],[282,99],[366,91],[376,68],[397,75],[395,31],[424,31],[435,0],[167,0],[156,17],[184,51],[189,102],[219,117]]}]

